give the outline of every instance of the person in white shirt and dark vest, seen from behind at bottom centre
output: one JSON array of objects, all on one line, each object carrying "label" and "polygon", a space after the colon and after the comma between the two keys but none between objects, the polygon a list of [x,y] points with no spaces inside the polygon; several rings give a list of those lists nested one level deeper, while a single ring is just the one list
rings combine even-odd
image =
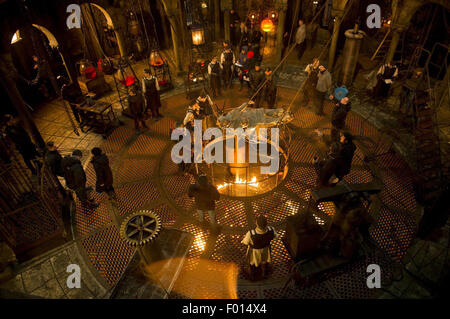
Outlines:
[{"label": "person in white shirt and dark vest, seen from behind at bottom centre", "polygon": [[267,225],[267,218],[264,215],[256,217],[256,228],[248,231],[241,242],[248,246],[247,262],[251,280],[267,278],[272,262],[270,243],[277,237],[277,232]]}]

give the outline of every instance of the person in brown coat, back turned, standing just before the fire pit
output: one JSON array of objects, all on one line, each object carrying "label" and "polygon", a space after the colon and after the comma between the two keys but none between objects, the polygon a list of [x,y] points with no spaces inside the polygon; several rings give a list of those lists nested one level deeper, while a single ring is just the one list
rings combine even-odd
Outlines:
[{"label": "person in brown coat, back turned, standing just before the fire pit", "polygon": [[198,178],[198,182],[189,186],[189,197],[194,197],[197,206],[197,214],[200,222],[204,222],[205,212],[208,212],[212,225],[216,224],[216,201],[220,199],[220,193],[204,175]]}]

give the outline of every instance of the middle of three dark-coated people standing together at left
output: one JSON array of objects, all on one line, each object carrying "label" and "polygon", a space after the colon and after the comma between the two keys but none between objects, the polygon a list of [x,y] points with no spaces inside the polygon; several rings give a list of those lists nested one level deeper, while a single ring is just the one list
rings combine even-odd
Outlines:
[{"label": "middle of three dark-coated people standing together at left", "polygon": [[86,188],[86,173],[81,165],[82,156],[83,153],[80,150],[74,150],[72,156],[66,156],[62,159],[61,166],[64,172],[64,179],[67,187],[75,192],[83,206],[95,208],[99,204],[88,197],[89,189]]}]

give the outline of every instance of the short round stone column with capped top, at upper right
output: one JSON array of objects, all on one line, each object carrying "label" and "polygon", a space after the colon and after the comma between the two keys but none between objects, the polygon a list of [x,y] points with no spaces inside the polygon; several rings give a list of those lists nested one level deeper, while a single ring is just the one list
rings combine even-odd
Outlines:
[{"label": "short round stone column with capped top, at upper right", "polygon": [[365,33],[355,29],[347,30],[345,32],[345,46],[343,53],[343,65],[340,75],[339,83],[347,87],[353,82],[353,76],[355,74],[356,63],[358,62],[359,50],[361,48],[362,40]]}]

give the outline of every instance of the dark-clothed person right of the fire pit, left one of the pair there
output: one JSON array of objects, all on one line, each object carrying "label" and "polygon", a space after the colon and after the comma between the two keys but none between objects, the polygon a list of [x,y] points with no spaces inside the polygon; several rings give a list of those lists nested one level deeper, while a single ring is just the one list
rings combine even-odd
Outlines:
[{"label": "dark-clothed person right of the fire pit, left one of the pair there", "polygon": [[313,164],[317,172],[319,187],[334,186],[339,181],[336,174],[342,165],[340,151],[339,143],[333,143],[325,159],[319,160],[317,156],[314,157]]}]

